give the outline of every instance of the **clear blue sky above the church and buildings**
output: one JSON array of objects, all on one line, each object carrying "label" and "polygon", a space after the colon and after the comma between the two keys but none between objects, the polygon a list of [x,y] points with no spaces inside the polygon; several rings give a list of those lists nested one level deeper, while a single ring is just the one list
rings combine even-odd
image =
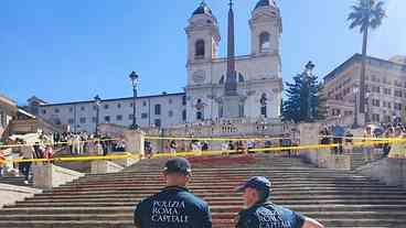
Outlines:
[{"label": "clear blue sky above the church and buildings", "polygon": [[[226,48],[228,0],[206,0]],[[249,52],[248,19],[258,0],[235,0],[236,51]],[[284,20],[284,80],[309,61],[324,76],[361,50],[345,21],[354,0],[279,0]],[[23,105],[182,91],[186,82],[184,28],[200,0],[1,0],[0,94]],[[370,37],[371,55],[406,55],[405,0],[386,0],[388,18]]]}]

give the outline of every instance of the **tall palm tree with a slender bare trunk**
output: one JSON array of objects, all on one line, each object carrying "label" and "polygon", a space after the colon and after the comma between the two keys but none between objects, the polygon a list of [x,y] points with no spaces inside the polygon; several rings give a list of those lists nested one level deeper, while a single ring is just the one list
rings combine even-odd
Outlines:
[{"label": "tall palm tree with a slender bare trunk", "polygon": [[366,46],[368,30],[376,29],[382,24],[385,18],[384,2],[378,0],[357,0],[351,7],[348,21],[351,21],[350,29],[360,28],[363,34],[362,43],[362,66],[360,78],[360,113],[365,113],[365,65],[366,65]]}]

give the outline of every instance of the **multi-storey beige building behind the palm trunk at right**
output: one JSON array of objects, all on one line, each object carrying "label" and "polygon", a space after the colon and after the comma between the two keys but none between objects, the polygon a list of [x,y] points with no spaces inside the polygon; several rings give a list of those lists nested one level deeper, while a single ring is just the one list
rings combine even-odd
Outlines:
[{"label": "multi-storey beige building behind the palm trunk at right", "polygon": [[[330,118],[355,116],[354,105],[360,101],[361,63],[362,55],[355,54],[324,77]],[[406,57],[395,56],[386,61],[368,56],[365,76],[366,120],[405,120]]]}]

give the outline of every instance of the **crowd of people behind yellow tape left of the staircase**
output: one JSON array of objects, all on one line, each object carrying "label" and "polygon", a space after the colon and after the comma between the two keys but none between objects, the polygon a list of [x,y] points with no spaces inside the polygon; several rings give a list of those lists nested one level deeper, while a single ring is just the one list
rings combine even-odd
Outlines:
[{"label": "crowd of people behind yellow tape left of the staircase", "polygon": [[33,162],[6,162],[7,159],[44,159],[41,163],[47,163],[55,152],[73,156],[77,155],[108,155],[110,152],[124,152],[126,143],[107,135],[89,135],[86,132],[64,132],[52,135],[40,134],[34,143],[17,138],[9,139],[0,148],[0,177],[4,172],[13,176],[24,176],[24,183],[30,181],[30,172]]}]

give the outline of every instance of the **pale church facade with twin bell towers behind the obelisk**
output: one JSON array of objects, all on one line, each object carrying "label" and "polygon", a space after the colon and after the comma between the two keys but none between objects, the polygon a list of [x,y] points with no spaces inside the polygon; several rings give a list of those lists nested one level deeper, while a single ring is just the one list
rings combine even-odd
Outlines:
[{"label": "pale church facade with twin bell towers behind the obelisk", "polygon": [[[218,22],[203,2],[189,20],[188,35],[188,121],[246,118],[278,119],[282,77],[280,57],[281,17],[275,1],[260,0],[252,12],[250,53],[234,55],[234,12],[228,11],[227,56],[218,57]],[[238,41],[236,41],[238,42]],[[229,63],[232,62],[232,63]],[[227,72],[232,65],[232,73]],[[226,113],[227,74],[234,74],[238,107]],[[237,99],[237,98],[236,98]],[[236,113],[237,112],[237,113]]]}]

